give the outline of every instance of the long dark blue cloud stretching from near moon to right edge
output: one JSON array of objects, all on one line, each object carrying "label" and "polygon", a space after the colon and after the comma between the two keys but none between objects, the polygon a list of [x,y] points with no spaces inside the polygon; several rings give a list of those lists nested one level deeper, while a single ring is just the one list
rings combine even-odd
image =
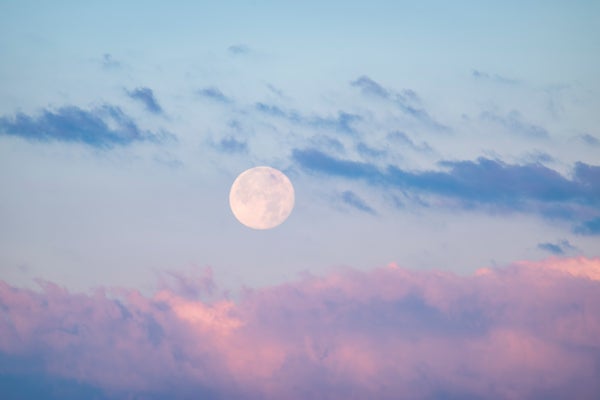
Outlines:
[{"label": "long dark blue cloud stretching from near moon to right edge", "polygon": [[[576,218],[572,210],[578,207],[600,212],[600,166],[584,163],[577,163],[568,179],[541,164],[511,165],[486,158],[441,162],[440,171],[408,171],[395,166],[381,170],[374,164],[338,159],[316,149],[295,149],[292,158],[309,171],[449,197],[464,207],[493,205],[564,218]],[[600,219],[588,222],[580,232],[600,232]]]}]

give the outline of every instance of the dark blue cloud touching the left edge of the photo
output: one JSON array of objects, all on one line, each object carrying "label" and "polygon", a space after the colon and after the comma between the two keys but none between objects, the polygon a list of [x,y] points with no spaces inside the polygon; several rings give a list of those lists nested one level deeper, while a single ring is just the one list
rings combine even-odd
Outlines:
[{"label": "dark blue cloud touching the left edge of the photo", "polygon": [[24,113],[3,116],[0,117],[2,134],[40,142],[78,142],[97,148],[156,141],[170,136],[142,131],[121,108],[108,104],[91,110],[65,106],[57,110],[45,109],[38,116]]}]

